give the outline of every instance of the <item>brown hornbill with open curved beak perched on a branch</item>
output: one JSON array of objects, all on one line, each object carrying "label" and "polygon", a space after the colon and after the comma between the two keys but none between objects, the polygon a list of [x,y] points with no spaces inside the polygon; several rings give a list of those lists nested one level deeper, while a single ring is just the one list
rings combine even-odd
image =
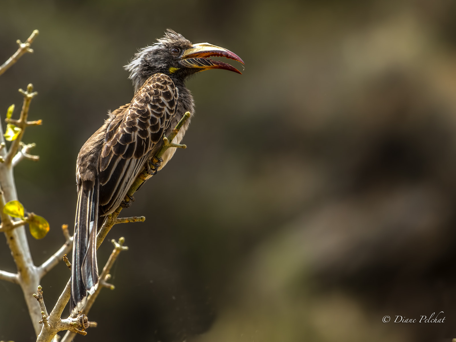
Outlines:
[{"label": "brown hornbill with open curved beak perched on a branch", "polygon": [[[162,138],[171,133],[187,111],[191,116],[194,114],[194,101],[186,80],[210,69],[241,74],[228,63],[208,58],[212,56],[244,64],[240,57],[223,47],[192,44],[181,34],[167,29],[162,38],[139,49],[124,66],[130,72],[134,96],[130,103],[108,112],[108,119],[84,143],[76,162],[78,200],[73,235],[71,316],[77,316],[87,296],[98,287],[98,228],[119,205],[125,206],[125,195],[143,170],[154,175],[176,151],[169,148],[158,162],[151,162],[163,144]],[[181,142],[189,124],[190,119],[173,142]]]}]

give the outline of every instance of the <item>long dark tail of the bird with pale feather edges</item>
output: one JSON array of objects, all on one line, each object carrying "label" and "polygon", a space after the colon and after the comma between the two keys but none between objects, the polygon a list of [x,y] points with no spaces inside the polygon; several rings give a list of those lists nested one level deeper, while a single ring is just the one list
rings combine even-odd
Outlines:
[{"label": "long dark tail of the bird with pale feather edges", "polygon": [[79,188],[71,267],[70,314],[76,315],[98,286],[96,237],[98,226],[98,177]]}]

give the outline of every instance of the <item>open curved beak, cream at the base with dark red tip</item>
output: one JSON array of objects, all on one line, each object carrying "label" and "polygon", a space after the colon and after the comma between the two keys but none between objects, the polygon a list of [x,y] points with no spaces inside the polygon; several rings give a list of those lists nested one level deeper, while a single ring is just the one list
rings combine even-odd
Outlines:
[{"label": "open curved beak, cream at the base with dark red tip", "polygon": [[227,57],[244,64],[243,60],[233,52],[209,43],[193,44],[192,47],[183,52],[179,63],[183,67],[200,68],[201,70],[199,71],[224,69],[242,74],[238,69],[228,63],[213,61],[212,59],[207,58],[211,56]]}]

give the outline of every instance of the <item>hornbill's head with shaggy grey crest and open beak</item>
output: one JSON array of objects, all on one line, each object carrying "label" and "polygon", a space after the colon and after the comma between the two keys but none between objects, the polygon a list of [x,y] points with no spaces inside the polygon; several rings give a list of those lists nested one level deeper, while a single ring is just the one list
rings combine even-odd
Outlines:
[{"label": "hornbill's head with shaggy grey crest and open beak", "polygon": [[130,72],[129,78],[133,82],[135,92],[155,73],[164,73],[174,81],[182,82],[195,73],[209,69],[241,73],[227,63],[207,58],[211,56],[223,56],[244,64],[241,58],[223,47],[209,43],[192,44],[182,35],[168,29],[157,43],[135,53],[131,62],[125,65],[125,70]]}]

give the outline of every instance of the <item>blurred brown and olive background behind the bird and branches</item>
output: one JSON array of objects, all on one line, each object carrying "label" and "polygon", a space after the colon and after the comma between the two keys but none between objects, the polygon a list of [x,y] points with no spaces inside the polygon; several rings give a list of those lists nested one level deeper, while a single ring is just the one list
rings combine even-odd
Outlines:
[{"label": "blurred brown and olive background behind the bird and branches", "polygon": [[[244,74],[188,82],[188,148],[122,212],[145,223],[109,233],[130,250],[90,312],[98,327],[76,340],[456,337],[451,0],[0,0],[0,62],[40,30],[35,52],[0,77],[2,121],[10,104],[18,115],[18,88],[39,93],[30,119],[43,125],[24,141],[41,159],[15,170],[21,202],[51,224],[30,238],[35,263],[72,226],[79,148],[132,98],[122,66],[167,27],[235,52]],[[14,272],[0,240],[0,268]],[[111,250],[99,249],[100,267]],[[68,276],[61,263],[42,280],[48,308]],[[440,311],[443,324],[392,322]],[[21,290],[6,282],[0,339],[35,340]]]}]

